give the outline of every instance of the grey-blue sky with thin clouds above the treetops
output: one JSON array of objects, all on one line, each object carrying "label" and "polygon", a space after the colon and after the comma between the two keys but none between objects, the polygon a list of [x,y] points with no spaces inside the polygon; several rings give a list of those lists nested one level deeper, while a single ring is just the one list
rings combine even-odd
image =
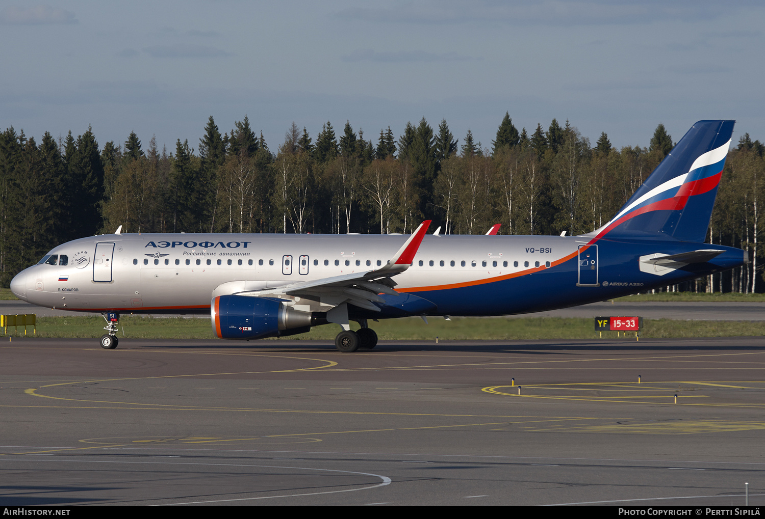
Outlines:
[{"label": "grey-blue sky with thin clouds above the treetops", "polygon": [[705,118],[765,141],[763,30],[759,0],[2,1],[0,128],[173,152],[247,115],[277,151],[292,122],[376,143],[424,117],[491,148],[508,112],[617,148]]}]

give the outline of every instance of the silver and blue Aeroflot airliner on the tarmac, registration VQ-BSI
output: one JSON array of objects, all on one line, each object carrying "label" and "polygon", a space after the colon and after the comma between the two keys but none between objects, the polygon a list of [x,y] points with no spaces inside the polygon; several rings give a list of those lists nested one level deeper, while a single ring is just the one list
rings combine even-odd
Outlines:
[{"label": "silver and blue Aeroflot airliner on the tarmac, registration VQ-BSI", "polygon": [[[340,352],[372,349],[370,320],[500,316],[592,303],[747,264],[705,244],[734,121],[699,121],[606,225],[584,235],[123,233],[53,248],[11,281],[41,307],[210,313],[221,339],[340,326]],[[350,329],[355,321],[360,329]]]}]

